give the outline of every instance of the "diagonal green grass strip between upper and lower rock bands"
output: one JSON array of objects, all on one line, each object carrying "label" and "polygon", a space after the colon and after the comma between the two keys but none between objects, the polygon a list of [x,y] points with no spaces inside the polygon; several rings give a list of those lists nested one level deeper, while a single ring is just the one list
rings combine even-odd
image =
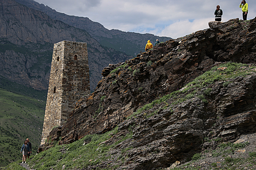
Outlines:
[{"label": "diagonal green grass strip between upper and lower rock bands", "polygon": [[[165,95],[161,97],[160,99],[157,99],[151,103],[145,104],[141,108],[139,108],[136,112],[134,112],[130,117],[127,119],[130,119],[138,114],[140,114],[142,111],[149,110],[154,107],[156,104],[165,104],[165,108],[171,105],[175,105],[180,102],[187,101],[193,97],[195,97],[195,94],[198,92],[197,90],[200,89],[201,94],[197,95],[196,97],[201,99],[202,102],[208,103],[206,96],[210,95],[212,89],[211,88],[206,88],[208,85],[212,85],[215,82],[219,81],[225,81],[228,83],[223,83],[224,85],[232,83],[232,81],[228,81],[231,79],[234,79],[238,76],[245,76],[251,74],[250,71],[245,71],[244,69],[248,67],[247,64],[241,64],[241,63],[224,63],[221,64],[220,66],[216,66],[212,68],[211,70],[205,72],[204,74],[198,76],[194,81],[191,83],[185,85],[184,88],[181,90],[174,91],[168,95]],[[223,68],[223,69],[217,69],[217,68]],[[251,67],[250,69],[253,69],[255,67]],[[134,75],[137,72],[137,70],[134,70]],[[187,94],[184,98],[180,97],[180,94]],[[168,100],[172,99],[171,103],[167,103]],[[165,102],[165,103],[164,103]],[[155,115],[155,114],[150,114],[150,115]]]}]

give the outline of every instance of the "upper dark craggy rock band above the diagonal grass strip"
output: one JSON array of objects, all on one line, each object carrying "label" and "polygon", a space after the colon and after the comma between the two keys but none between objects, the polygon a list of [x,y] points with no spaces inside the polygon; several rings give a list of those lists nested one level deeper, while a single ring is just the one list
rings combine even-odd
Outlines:
[{"label": "upper dark craggy rock band above the diagonal grass strip", "polygon": [[112,129],[142,105],[180,89],[220,62],[255,63],[255,19],[244,28],[238,19],[230,20],[161,43],[121,67],[113,67],[95,92],[78,102],[63,125],[63,142]]}]

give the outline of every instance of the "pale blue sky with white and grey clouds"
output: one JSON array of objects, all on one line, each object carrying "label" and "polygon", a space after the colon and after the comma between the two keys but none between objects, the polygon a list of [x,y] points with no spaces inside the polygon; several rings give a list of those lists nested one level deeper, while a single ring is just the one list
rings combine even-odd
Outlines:
[{"label": "pale blue sky with white and grey clouds", "polygon": [[[209,28],[219,5],[223,22],[242,19],[241,0],[35,0],[70,16],[88,17],[105,28],[178,38]],[[256,0],[247,19],[256,17]]]}]

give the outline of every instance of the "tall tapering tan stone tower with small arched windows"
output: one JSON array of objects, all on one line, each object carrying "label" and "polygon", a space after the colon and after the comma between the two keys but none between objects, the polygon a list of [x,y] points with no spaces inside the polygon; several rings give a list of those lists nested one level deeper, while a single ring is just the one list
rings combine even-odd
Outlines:
[{"label": "tall tapering tan stone tower with small arched windows", "polygon": [[54,44],[41,144],[53,127],[62,125],[76,102],[90,94],[87,44],[61,41]]}]

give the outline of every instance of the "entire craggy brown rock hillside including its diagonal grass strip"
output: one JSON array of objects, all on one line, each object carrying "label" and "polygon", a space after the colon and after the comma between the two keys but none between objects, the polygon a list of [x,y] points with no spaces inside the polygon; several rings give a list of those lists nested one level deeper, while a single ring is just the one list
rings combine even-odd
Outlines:
[{"label": "entire craggy brown rock hillside including its diagonal grass strip", "polygon": [[255,30],[256,18],[232,19],[105,68],[95,92],[49,138],[67,144],[118,125],[104,145],[129,137],[98,167],[156,170],[216,147],[204,138],[234,142],[255,133]]}]

